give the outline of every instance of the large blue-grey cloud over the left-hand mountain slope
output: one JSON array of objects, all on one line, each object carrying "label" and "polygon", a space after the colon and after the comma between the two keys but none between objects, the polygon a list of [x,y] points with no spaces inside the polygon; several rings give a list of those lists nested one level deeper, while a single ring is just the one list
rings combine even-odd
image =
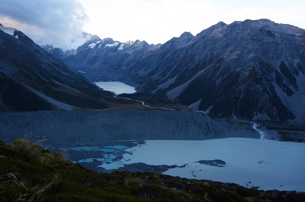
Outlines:
[{"label": "large blue-grey cloud over the left-hand mountain slope", "polygon": [[67,49],[87,21],[78,0],[0,0],[0,23],[19,29],[39,45]]}]

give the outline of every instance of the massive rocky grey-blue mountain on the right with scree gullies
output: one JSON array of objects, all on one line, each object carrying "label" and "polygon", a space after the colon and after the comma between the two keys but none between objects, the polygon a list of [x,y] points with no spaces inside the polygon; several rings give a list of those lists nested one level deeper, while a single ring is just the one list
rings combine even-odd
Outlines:
[{"label": "massive rocky grey-blue mountain on the right with scree gullies", "polygon": [[157,51],[128,68],[144,92],[216,116],[305,121],[303,29],[219,22],[165,57]]}]

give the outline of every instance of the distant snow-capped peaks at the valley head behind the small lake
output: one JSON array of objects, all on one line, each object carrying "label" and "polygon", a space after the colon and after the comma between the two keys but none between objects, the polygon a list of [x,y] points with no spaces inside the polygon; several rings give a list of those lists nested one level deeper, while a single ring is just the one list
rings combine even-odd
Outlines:
[{"label": "distant snow-capped peaks at the valley head behind the small lake", "polygon": [[133,65],[142,56],[157,50],[159,46],[160,44],[149,45],[146,41],[139,40],[121,43],[112,38],[100,39],[97,35],[91,35],[77,49],[63,51],[52,45],[42,47],[69,67],[83,73],[91,81],[115,78],[136,86],[138,83],[128,76],[125,68]]}]

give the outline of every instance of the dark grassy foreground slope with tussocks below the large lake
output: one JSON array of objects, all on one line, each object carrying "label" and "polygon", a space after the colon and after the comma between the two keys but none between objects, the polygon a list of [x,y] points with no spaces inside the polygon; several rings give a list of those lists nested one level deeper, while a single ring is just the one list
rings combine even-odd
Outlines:
[{"label": "dark grassy foreground slope with tussocks below the large lake", "polygon": [[153,173],[96,173],[26,140],[0,141],[0,202],[305,201],[305,193]]}]

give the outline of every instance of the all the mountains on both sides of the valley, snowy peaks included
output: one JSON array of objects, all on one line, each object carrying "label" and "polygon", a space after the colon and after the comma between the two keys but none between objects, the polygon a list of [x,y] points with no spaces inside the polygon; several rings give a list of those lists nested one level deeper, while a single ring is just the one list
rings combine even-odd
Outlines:
[{"label": "all the mountains on both sides of the valley, snowy peaks included", "polygon": [[0,30],[1,110],[106,108],[113,95],[90,82],[111,80],[217,117],[305,123],[305,30],[292,25],[219,22],[162,45],[83,33],[71,50]]}]

